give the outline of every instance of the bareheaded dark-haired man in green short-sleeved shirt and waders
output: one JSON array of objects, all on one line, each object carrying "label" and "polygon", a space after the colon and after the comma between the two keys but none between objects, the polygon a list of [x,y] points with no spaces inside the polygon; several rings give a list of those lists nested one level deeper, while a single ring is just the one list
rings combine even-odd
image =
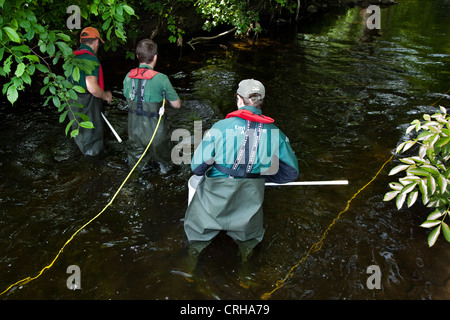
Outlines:
[{"label": "bareheaded dark-haired man in green short-sleeved shirt and waders", "polygon": [[[123,81],[123,94],[128,102],[128,164],[133,167],[156,129],[159,109],[166,99],[173,108],[181,107],[181,100],[167,75],[154,70],[158,59],[158,46],[150,39],[141,40],[136,46],[139,67],[131,70]],[[165,173],[171,162],[173,142],[171,126],[162,117],[153,142],[139,167],[153,159]]]}]

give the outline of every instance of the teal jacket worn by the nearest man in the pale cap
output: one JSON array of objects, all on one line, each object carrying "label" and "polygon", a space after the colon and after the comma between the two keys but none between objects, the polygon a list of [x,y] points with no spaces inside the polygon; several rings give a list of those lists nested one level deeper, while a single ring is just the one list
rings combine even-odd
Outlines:
[{"label": "teal jacket worn by the nearest man in the pale cap", "polygon": [[[252,106],[241,109],[255,115],[262,114],[261,109]],[[192,171],[196,175],[204,175],[206,170],[212,167],[208,173],[209,177],[228,177],[228,171],[221,169],[232,168],[244,141],[245,129],[246,120],[240,117],[230,117],[215,123],[194,152]],[[249,150],[246,152],[248,156],[253,143],[253,133],[251,132],[248,137]],[[260,175],[267,182],[275,183],[291,182],[298,177],[298,160],[289,139],[273,123],[263,124],[256,159],[250,173]]]}]

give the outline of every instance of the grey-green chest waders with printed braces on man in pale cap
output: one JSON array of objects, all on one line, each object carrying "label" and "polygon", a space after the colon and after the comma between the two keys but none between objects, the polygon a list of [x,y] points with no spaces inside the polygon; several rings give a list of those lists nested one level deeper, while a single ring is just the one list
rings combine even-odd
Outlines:
[{"label": "grey-green chest waders with printed braces on man in pale cap", "polygon": [[259,178],[259,174],[250,173],[262,128],[262,123],[247,120],[244,141],[232,168],[214,165],[229,176],[210,178],[207,171],[200,180],[184,222],[190,242],[210,241],[221,230],[227,231],[227,235],[237,241],[256,240],[257,243],[262,240],[265,180]]}]

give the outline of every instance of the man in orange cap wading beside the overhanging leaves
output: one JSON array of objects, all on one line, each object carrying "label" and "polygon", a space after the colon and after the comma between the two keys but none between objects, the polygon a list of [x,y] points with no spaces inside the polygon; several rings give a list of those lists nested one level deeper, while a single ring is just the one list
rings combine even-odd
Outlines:
[{"label": "man in orange cap wading beside the overhanging leaves", "polygon": [[[77,93],[78,99],[71,100],[72,112],[80,112],[87,115],[93,123],[93,129],[80,128],[79,134],[74,138],[75,143],[84,155],[96,156],[103,150],[103,119],[101,116],[102,100],[110,103],[112,100],[111,91],[104,91],[103,70],[96,54],[100,47],[100,42],[104,41],[100,38],[97,29],[87,27],[81,31],[80,48],[74,51],[78,59],[85,59],[95,62],[95,68],[87,74],[80,69],[80,80],[75,82],[73,77],[69,77],[69,81],[81,86],[85,93]],[[81,104],[83,107],[77,109],[74,103]],[[74,114],[69,112],[70,120],[73,120]],[[80,116],[76,115],[79,122],[84,121]],[[75,128],[75,123],[73,124]]]}]

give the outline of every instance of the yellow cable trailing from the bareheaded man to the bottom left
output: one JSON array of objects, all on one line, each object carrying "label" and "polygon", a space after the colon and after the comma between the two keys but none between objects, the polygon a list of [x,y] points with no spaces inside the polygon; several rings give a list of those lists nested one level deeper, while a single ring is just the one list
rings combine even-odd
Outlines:
[{"label": "yellow cable trailing from the bareheaded man to the bottom left", "polygon": [[39,278],[42,273],[44,273],[45,270],[50,269],[53,264],[55,263],[55,261],[58,259],[59,255],[63,252],[64,248],[73,240],[73,238],[81,231],[83,230],[87,225],[89,225],[92,221],[94,221],[95,219],[97,219],[103,212],[105,212],[105,210],[114,202],[114,200],[116,199],[117,195],[119,194],[120,190],[122,190],[123,186],[125,185],[125,183],[127,182],[127,180],[130,178],[131,174],[133,173],[133,171],[136,169],[136,167],[139,165],[139,163],[141,162],[142,158],[144,157],[144,155],[147,153],[148,149],[150,148],[150,145],[153,142],[153,139],[155,138],[155,134],[156,131],[158,130],[159,124],[161,122],[161,118],[164,114],[164,105],[166,103],[166,100],[163,99],[163,104],[162,107],[160,109],[160,113],[159,113],[159,118],[158,118],[158,123],[156,124],[156,128],[155,131],[153,132],[152,138],[150,139],[150,142],[148,143],[147,147],[145,148],[144,152],[142,153],[141,157],[139,158],[139,160],[136,162],[136,164],[134,165],[134,167],[131,169],[130,173],[128,173],[127,177],[125,178],[125,180],[122,182],[122,184],[120,185],[119,189],[117,189],[116,193],[114,194],[114,196],[112,197],[111,201],[109,201],[109,203],[103,208],[102,211],[100,211],[95,217],[93,217],[91,220],[89,220],[88,222],[86,222],[81,228],[79,228],[77,231],[75,231],[75,233],[69,238],[69,240],[66,241],[66,243],[64,243],[64,245],[61,247],[61,249],[59,250],[58,254],[56,255],[56,257],[53,259],[53,261],[45,266],[36,276],[34,277],[26,277],[25,279],[19,280],[16,283],[13,283],[12,285],[10,285],[8,288],[6,288],[6,290],[4,290],[3,292],[0,293],[0,296],[5,294],[6,292],[8,292],[12,287],[18,286],[18,285],[24,285],[27,284],[28,282],[35,280],[37,278]]}]

